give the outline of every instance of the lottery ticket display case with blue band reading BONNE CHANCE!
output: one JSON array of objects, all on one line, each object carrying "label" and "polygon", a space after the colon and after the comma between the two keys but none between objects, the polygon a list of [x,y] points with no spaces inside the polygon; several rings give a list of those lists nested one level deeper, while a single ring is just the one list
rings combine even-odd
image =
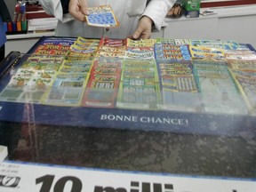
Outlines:
[{"label": "lottery ticket display case with blue band reading BONNE CHANCE!", "polygon": [[[172,175],[185,183],[210,178],[220,181],[220,191],[247,184],[253,191],[256,53],[250,44],[42,37],[28,53],[11,52],[0,69],[0,145],[8,147],[1,191],[10,189],[4,177],[28,164]],[[37,188],[46,180],[41,176]],[[148,178],[140,183],[143,192],[178,191],[158,182],[147,189]],[[60,187],[62,179],[53,183]],[[226,190],[222,180],[246,184]]]}]

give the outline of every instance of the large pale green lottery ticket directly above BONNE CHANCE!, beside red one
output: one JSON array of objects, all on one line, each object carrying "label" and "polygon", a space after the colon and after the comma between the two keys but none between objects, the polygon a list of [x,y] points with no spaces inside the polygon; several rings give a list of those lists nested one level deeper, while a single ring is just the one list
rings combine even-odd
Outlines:
[{"label": "large pale green lottery ticket directly above BONNE CHANCE!, beside red one", "polygon": [[125,59],[117,106],[156,109],[159,108],[159,102],[156,61]]}]

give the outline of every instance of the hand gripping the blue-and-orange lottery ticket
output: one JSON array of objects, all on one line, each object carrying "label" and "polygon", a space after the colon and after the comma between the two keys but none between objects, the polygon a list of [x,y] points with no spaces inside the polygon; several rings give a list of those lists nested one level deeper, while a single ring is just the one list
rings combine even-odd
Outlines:
[{"label": "hand gripping the blue-and-orange lottery ticket", "polygon": [[68,4],[68,12],[76,20],[86,21],[85,15],[88,15],[87,0],[70,0]]}]

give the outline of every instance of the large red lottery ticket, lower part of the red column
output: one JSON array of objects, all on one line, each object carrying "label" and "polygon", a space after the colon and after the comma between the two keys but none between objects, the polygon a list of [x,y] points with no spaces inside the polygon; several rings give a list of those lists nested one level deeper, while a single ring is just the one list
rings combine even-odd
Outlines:
[{"label": "large red lottery ticket, lower part of the red column", "polygon": [[119,86],[122,60],[99,58],[94,60],[91,76],[84,92],[83,106],[113,108]]}]

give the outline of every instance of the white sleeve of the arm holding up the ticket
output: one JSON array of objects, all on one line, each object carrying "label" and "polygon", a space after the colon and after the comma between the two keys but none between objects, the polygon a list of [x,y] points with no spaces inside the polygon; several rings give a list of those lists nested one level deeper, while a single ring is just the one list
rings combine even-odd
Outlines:
[{"label": "white sleeve of the arm holding up the ticket", "polygon": [[60,0],[39,0],[44,12],[49,15],[53,15],[57,20],[61,22],[68,22],[74,20],[69,14],[63,14],[63,9]]}]

